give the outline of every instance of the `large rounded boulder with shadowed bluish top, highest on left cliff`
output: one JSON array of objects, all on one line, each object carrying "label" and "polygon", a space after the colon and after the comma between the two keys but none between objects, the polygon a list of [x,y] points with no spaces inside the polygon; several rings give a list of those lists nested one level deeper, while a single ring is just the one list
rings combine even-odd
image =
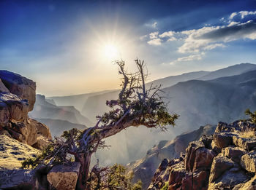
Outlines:
[{"label": "large rounded boulder with shadowed bluish top, highest on left cliff", "polygon": [[33,109],[36,101],[35,82],[10,71],[0,71],[0,79],[12,94],[29,101],[29,111]]}]

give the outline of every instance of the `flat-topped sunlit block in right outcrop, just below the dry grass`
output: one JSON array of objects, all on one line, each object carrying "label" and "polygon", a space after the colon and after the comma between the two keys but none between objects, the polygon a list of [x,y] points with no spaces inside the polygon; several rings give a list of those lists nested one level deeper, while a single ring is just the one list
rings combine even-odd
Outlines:
[{"label": "flat-topped sunlit block in right outcrop, just below the dry grass", "polygon": [[246,154],[246,151],[240,147],[226,147],[225,149],[222,149],[223,157],[230,158],[238,163],[240,163],[241,157],[244,154]]}]

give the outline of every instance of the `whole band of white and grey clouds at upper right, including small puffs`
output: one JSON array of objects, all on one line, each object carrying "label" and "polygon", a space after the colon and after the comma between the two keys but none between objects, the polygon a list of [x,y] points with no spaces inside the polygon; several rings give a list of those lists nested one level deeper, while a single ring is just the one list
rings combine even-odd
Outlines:
[{"label": "whole band of white and grey clouds at upper right, including small puffs", "polygon": [[[150,33],[148,44],[161,45],[168,41],[181,41],[177,52],[187,54],[172,63],[189,60],[201,60],[202,54],[219,47],[226,47],[228,42],[256,39],[256,11],[233,12],[222,17],[221,25],[206,25],[203,28],[187,31],[158,31]],[[190,55],[189,55],[190,54]]]}]

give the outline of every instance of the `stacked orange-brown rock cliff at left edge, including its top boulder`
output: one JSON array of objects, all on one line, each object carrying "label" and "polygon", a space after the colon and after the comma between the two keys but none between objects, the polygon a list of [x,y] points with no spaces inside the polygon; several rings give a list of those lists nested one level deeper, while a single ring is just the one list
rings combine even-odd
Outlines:
[{"label": "stacked orange-brown rock cliff at left edge, including its top boulder", "polygon": [[28,116],[36,100],[36,83],[10,71],[0,71],[0,134],[43,149],[50,130]]}]

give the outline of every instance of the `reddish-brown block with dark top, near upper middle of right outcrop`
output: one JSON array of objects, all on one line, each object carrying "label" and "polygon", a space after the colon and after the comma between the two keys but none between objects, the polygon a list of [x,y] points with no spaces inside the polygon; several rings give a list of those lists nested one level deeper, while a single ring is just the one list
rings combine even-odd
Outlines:
[{"label": "reddish-brown block with dark top, near upper middle of right outcrop", "polygon": [[233,144],[233,136],[235,133],[231,132],[215,132],[214,143],[219,149],[225,148]]}]

